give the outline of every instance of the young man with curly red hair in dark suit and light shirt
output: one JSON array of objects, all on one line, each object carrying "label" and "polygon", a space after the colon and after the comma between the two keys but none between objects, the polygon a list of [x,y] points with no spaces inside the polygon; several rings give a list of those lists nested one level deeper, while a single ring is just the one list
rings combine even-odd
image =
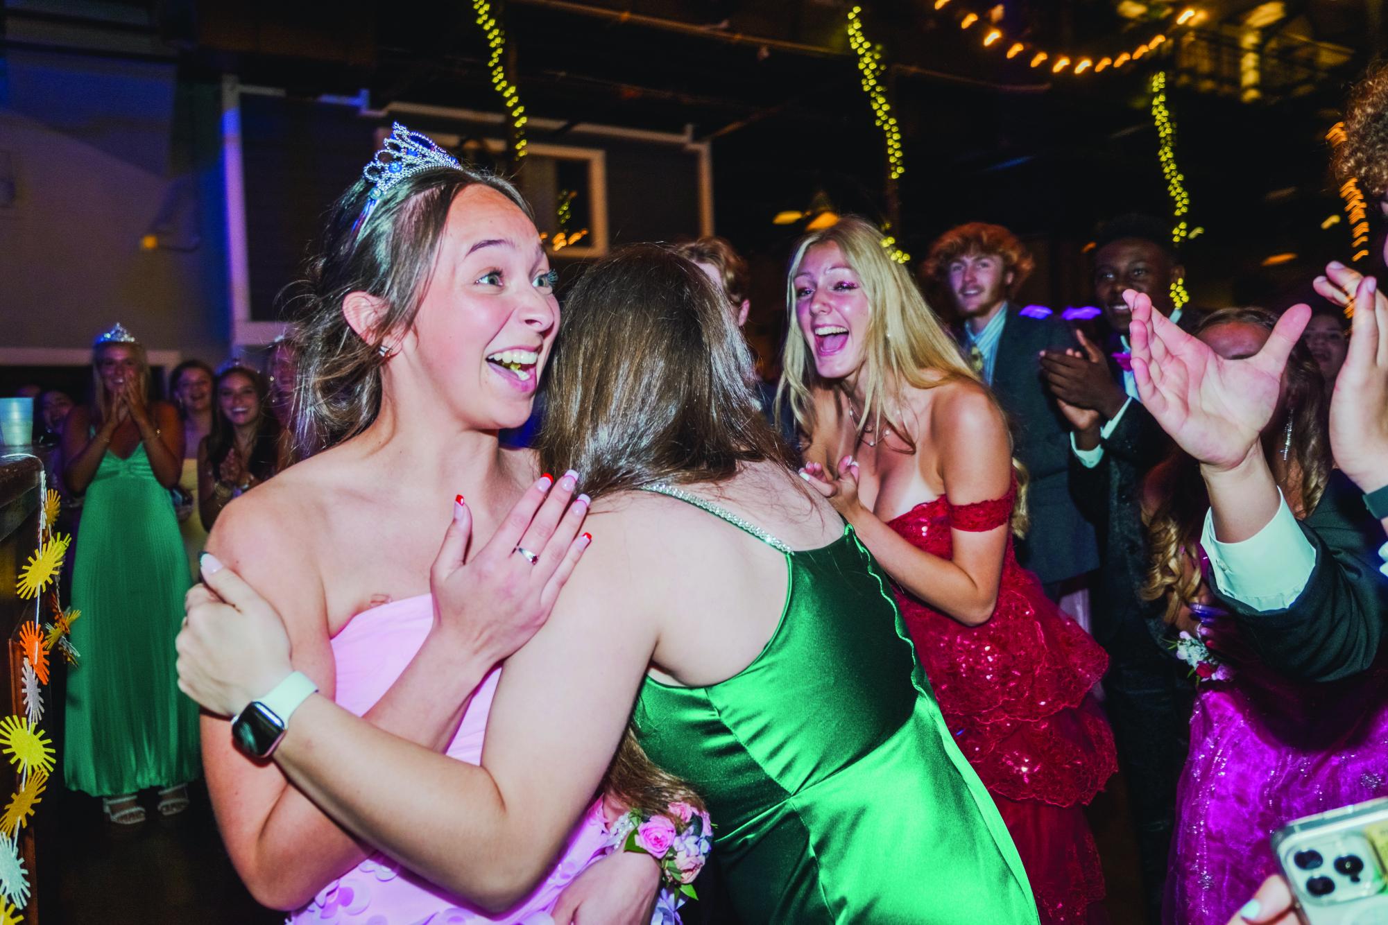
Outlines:
[{"label": "young man with curly red hair in dark suit and light shirt", "polygon": [[1069,427],[1041,380],[1041,351],[1073,348],[1074,336],[1059,318],[1010,301],[1033,266],[1012,232],[973,222],[931,245],[924,272],[954,295],[960,347],[1008,412],[1013,453],[1030,477],[1031,528],[1017,544],[1017,562],[1059,600],[1098,567],[1098,548],[1070,498]]}]

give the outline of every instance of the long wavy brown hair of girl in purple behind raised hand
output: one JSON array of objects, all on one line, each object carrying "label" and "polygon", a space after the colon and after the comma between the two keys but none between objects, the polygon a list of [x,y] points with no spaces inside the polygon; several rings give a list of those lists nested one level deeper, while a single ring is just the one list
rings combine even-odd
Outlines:
[{"label": "long wavy brown hair of girl in purple behind raised hand", "polygon": [[[1195,334],[1219,325],[1244,323],[1273,330],[1277,318],[1259,308],[1226,308],[1208,315],[1195,327]],[[1287,496],[1298,519],[1320,503],[1330,481],[1334,460],[1330,455],[1328,401],[1321,381],[1320,366],[1306,345],[1298,343],[1283,373],[1285,392],[1274,412],[1271,427],[1263,433],[1266,453],[1281,452],[1291,423],[1291,451],[1285,473],[1278,487]],[[1146,581],[1140,589],[1144,600],[1166,600],[1166,621],[1174,623],[1183,606],[1195,602],[1201,588],[1201,570],[1195,551],[1199,546],[1209,495],[1201,478],[1199,463],[1180,448],[1149,476],[1156,505],[1144,515],[1149,556]]]}]

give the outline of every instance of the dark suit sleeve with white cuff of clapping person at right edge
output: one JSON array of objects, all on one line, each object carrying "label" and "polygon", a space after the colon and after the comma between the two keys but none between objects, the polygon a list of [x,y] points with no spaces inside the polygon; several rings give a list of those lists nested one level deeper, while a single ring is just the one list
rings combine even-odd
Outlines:
[{"label": "dark suit sleeve with white cuff of clapping person at right edge", "polygon": [[1363,494],[1334,472],[1320,503],[1302,523],[1316,567],[1284,610],[1258,612],[1219,594],[1244,638],[1271,667],[1310,681],[1334,681],[1367,668],[1388,619],[1388,580],[1378,573],[1382,527]]}]

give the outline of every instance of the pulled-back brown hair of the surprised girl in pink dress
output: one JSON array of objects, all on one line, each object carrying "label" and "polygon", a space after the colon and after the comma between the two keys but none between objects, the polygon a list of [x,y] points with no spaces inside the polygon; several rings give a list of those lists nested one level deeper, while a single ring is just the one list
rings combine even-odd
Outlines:
[{"label": "pulled-back brown hair of the surprised girl in pink dress", "polygon": [[[476,168],[421,171],[397,180],[362,216],[372,186],[357,180],[333,205],[304,277],[287,290],[286,308],[301,313],[293,422],[294,459],[304,459],[364,431],[380,413],[383,344],[398,343],[419,311],[439,258],[448,209],[480,183],[530,216],[507,180]],[[368,293],[386,309],[369,340],[343,316],[343,300]]]}]

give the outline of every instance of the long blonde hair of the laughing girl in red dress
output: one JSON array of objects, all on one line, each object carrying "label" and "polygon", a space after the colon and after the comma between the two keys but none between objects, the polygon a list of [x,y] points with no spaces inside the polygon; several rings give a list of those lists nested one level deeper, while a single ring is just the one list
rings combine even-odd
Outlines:
[{"label": "long blonde hair of the laughing girl in red dress", "polygon": [[[795,275],[799,273],[805,254],[812,247],[833,243],[838,245],[844,259],[858,275],[863,295],[870,306],[863,366],[859,373],[865,377],[866,390],[862,420],[858,422],[858,437],[862,437],[869,422],[877,433],[883,433],[881,429],[886,424],[915,451],[915,442],[894,419],[894,413],[904,404],[902,394],[908,387],[934,388],[945,383],[967,380],[983,387],[992,397],[994,405],[997,405],[997,397],[965,361],[958,343],[940,322],[940,316],[930,308],[930,304],[926,302],[926,297],[916,286],[916,280],[912,279],[911,270],[891,259],[883,239],[884,236],[876,225],[855,215],[845,216],[831,227],[811,232],[799,239],[786,273],[786,316],[790,330],[786,336],[786,348],[781,352],[783,373],[776,390],[776,408],[780,409],[783,399],[788,397],[795,423],[804,433],[812,434],[816,424],[812,390],[818,387],[843,391],[841,384],[820,379],[795,318]],[[942,374],[936,377],[930,373]],[[997,406],[1002,412],[1002,406]],[[1006,412],[1002,413],[1006,419]],[[1026,467],[1016,459],[1012,460],[1012,467],[1019,485],[1017,501],[1012,512],[1012,531],[1022,537],[1029,526],[1027,473]]]}]

